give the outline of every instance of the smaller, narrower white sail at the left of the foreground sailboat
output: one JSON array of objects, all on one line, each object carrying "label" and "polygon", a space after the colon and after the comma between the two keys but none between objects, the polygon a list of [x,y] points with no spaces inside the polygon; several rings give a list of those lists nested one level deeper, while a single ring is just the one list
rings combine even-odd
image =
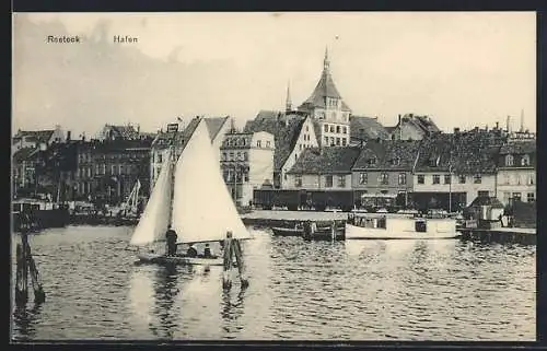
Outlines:
[{"label": "smaller, narrower white sail at the left of the foreground sailboat", "polygon": [[150,195],[130,245],[147,245],[165,235],[170,221],[171,192],[173,190],[171,159],[163,163],[158,182]]}]

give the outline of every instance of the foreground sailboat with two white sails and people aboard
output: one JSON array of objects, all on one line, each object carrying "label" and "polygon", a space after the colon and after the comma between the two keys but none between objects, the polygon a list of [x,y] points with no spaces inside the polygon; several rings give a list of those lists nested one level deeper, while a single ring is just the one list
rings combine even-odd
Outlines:
[{"label": "foreground sailboat with two white sails and people aboard", "polygon": [[[201,119],[178,160],[168,151],[130,245],[143,248],[164,242],[170,225],[177,245],[220,243],[228,233],[233,239],[252,238],[224,184],[216,152]],[[140,250],[137,257],[144,262],[223,266],[222,257],[166,256],[151,250]]]}]

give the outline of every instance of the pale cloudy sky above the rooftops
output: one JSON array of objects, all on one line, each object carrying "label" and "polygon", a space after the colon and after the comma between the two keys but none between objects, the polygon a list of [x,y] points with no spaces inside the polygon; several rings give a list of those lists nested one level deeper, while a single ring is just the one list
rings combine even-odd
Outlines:
[{"label": "pale cloudy sky above the rooftops", "polygon": [[[156,131],[284,109],[330,70],[354,115],[536,129],[534,12],[15,13],[12,129]],[[81,43],[47,43],[79,35]],[[137,43],[116,44],[115,35]]]}]

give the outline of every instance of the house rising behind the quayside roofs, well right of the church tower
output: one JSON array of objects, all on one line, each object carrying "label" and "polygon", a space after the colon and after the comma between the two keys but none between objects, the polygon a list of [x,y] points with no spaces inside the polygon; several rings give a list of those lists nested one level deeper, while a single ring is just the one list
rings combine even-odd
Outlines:
[{"label": "house rising behind the quayside roofs, well right of the church tower", "polygon": [[389,139],[421,140],[440,132],[431,117],[405,114],[398,116],[398,122],[389,129]]}]

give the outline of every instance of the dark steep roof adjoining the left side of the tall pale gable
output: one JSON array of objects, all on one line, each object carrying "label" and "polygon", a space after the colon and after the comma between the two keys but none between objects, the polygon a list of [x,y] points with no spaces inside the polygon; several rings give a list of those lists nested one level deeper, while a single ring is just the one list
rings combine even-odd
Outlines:
[{"label": "dark steep roof adjoining the left side of the tall pale gable", "polygon": [[280,171],[287,162],[287,159],[295,147],[304,121],[309,118],[298,115],[291,115],[290,118],[287,117],[289,116],[281,113],[276,113],[275,116],[271,114],[258,114],[254,120],[247,121],[244,129],[245,132],[267,131],[274,136],[276,144],[274,152],[275,171]]}]

